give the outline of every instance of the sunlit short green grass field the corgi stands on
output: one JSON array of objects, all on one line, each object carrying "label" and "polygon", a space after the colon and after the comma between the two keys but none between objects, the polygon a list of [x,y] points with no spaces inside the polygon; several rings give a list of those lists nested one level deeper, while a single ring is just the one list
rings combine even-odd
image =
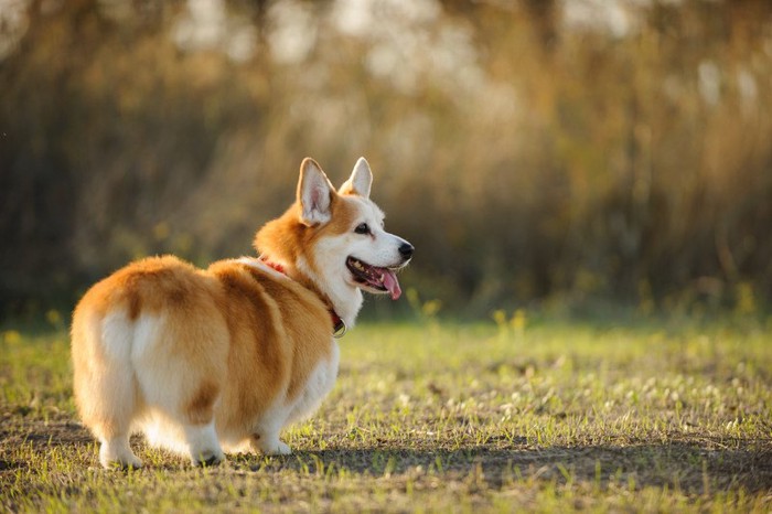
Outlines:
[{"label": "sunlit short green grass field the corgi stands on", "polygon": [[129,472],[78,424],[64,328],[6,329],[0,511],[772,511],[770,322],[364,324],[294,454],[193,469],[137,437]]}]

